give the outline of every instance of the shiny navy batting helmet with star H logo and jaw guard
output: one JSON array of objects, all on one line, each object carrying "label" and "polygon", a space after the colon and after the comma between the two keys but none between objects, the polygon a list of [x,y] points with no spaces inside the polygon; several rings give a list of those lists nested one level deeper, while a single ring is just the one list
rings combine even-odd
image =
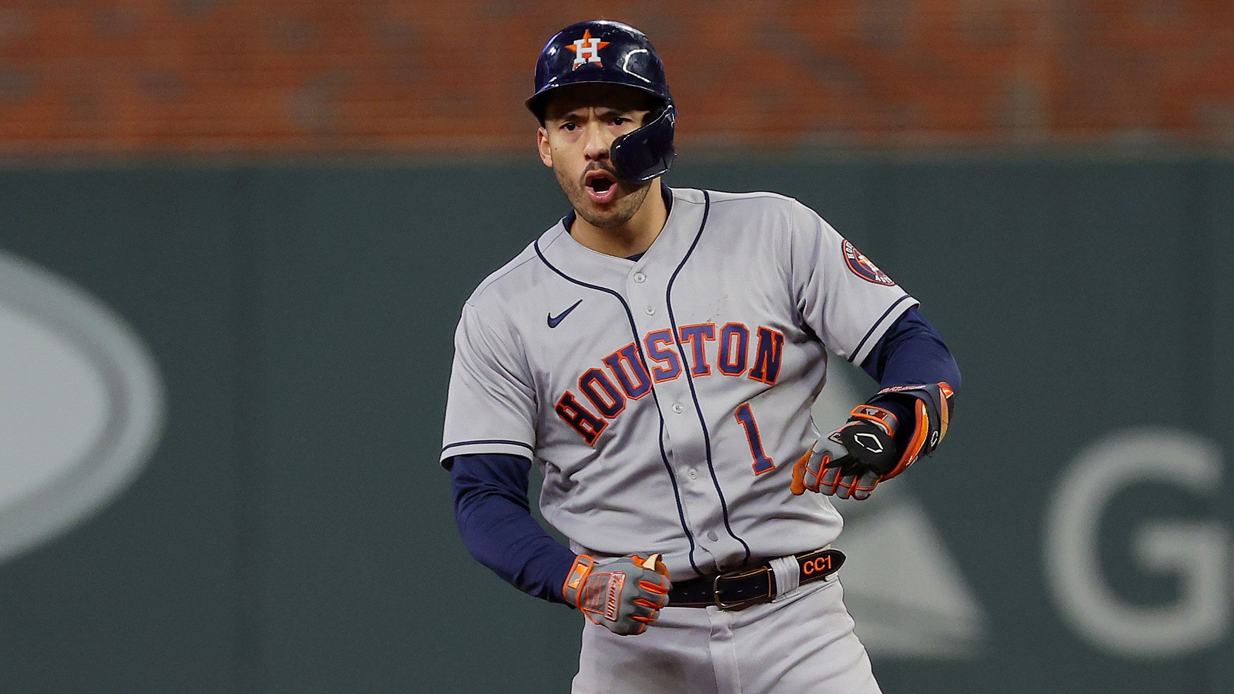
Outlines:
[{"label": "shiny navy batting helmet with star H logo and jaw guard", "polygon": [[591,20],[570,25],[548,39],[536,62],[536,94],[527,107],[542,122],[549,92],[571,84],[621,84],[656,99],[643,126],[613,141],[608,158],[626,180],[647,182],[669,170],[676,150],[673,106],[664,63],[647,35],[621,22]]}]

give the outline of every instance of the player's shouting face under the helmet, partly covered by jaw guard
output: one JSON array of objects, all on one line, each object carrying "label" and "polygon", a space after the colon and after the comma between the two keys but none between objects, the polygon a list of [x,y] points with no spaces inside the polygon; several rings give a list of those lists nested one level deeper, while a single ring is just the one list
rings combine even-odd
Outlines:
[{"label": "player's shouting face under the helmet, partly covered by jaw guard", "polygon": [[537,136],[540,160],[550,166],[570,205],[600,228],[624,224],[638,212],[650,184],[617,178],[608,148],[643,125],[649,97],[615,85],[578,85],[560,90],[547,105]]}]

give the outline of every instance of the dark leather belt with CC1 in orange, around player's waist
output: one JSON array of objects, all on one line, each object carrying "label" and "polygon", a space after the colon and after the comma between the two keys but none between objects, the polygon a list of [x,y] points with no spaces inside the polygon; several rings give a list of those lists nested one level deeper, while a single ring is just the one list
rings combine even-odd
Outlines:
[{"label": "dark leather belt with CC1 in orange, around player's waist", "polygon": [[[844,565],[844,552],[839,550],[814,550],[795,555],[801,586],[822,581]],[[669,589],[670,608],[707,608],[744,610],[750,605],[770,603],[776,597],[775,574],[771,563],[738,568],[724,573],[681,581]]]}]

